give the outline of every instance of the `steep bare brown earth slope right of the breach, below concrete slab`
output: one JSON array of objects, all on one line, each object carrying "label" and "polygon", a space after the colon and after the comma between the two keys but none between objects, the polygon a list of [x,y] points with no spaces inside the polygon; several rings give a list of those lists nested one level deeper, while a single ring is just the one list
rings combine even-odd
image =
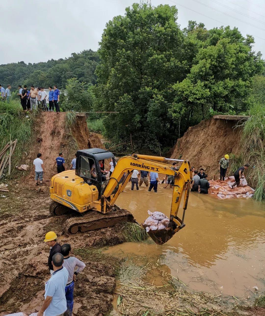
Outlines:
[{"label": "steep bare brown earth slope right of the breach, below concrete slab", "polygon": [[239,153],[240,129],[235,125],[235,121],[209,119],[190,127],[177,140],[171,158],[188,159],[192,166],[206,169],[213,177],[221,157]]}]

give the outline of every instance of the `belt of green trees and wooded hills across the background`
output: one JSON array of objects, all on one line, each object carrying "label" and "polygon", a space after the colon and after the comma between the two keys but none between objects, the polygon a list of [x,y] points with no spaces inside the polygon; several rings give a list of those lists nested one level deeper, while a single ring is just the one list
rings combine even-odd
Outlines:
[{"label": "belt of green trees and wooded hills across the background", "polygon": [[[133,4],[106,24],[98,52],[46,63],[0,66],[0,82],[66,88],[65,110],[103,115],[117,150],[161,153],[189,126],[215,113],[244,114],[264,97],[264,61],[237,28],[180,29],[175,6]],[[262,90],[263,89],[263,90]]]}]

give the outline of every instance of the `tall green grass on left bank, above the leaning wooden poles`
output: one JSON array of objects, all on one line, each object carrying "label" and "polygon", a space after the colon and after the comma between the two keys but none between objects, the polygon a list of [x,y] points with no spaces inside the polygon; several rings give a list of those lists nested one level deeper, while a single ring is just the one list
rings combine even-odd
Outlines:
[{"label": "tall green grass on left bank, above the leaning wooden poles", "polygon": [[18,140],[14,156],[12,156],[12,168],[29,147],[35,114],[35,111],[23,112],[18,100],[11,100],[9,103],[0,102],[0,151],[10,139],[14,141],[17,138]]}]

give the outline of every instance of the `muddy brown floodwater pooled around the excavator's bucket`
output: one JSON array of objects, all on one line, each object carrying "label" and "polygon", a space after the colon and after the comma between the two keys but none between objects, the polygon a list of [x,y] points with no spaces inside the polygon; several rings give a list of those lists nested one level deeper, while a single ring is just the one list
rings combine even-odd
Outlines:
[{"label": "muddy brown floodwater pooled around the excavator's bucket", "polygon": [[[143,223],[147,210],[169,216],[171,194],[172,189],[163,189],[162,184],[157,193],[145,186],[131,191],[127,185],[116,204]],[[119,258],[157,259],[192,290],[252,300],[256,297],[253,287],[261,292],[265,285],[264,211],[265,205],[252,199],[219,200],[191,192],[186,227],[166,244],[123,243],[106,252]],[[150,278],[159,284],[157,271]]]}]

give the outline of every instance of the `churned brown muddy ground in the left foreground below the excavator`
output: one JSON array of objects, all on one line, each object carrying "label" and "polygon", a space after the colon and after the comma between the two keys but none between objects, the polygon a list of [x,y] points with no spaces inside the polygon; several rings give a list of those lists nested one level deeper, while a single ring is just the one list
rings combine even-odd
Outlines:
[{"label": "churned brown muddy ground in the left foreground below the excavator", "polygon": [[49,249],[43,242],[45,233],[50,230],[56,232],[60,244],[70,243],[75,255],[86,264],[75,284],[74,314],[107,313],[112,308],[119,261],[102,255],[96,246],[121,243],[117,227],[62,236],[66,217],[49,216],[48,187],[42,186],[41,191],[36,191],[35,186],[27,188],[24,182],[18,181],[8,188],[8,193],[0,192],[6,196],[0,197],[0,315],[39,310],[44,283],[50,277]]}]

